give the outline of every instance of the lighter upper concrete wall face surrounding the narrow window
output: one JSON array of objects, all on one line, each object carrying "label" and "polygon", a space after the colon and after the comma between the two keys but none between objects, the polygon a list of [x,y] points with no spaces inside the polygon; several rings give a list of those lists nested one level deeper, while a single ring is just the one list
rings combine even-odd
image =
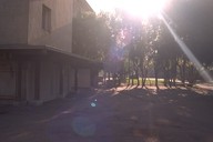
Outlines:
[{"label": "lighter upper concrete wall face surrounding the narrow window", "polygon": [[[72,51],[73,0],[30,0],[29,44],[45,44],[63,51]],[[50,9],[50,31],[42,28],[43,6]]]}]

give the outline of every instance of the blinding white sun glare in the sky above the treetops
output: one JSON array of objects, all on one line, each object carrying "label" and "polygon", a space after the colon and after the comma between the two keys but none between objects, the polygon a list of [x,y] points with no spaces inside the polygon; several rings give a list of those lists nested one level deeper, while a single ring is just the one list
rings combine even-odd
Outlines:
[{"label": "blinding white sun glare in the sky above the treetops", "polygon": [[139,18],[158,16],[169,4],[169,0],[88,0],[88,2],[95,11],[112,12],[119,8]]}]

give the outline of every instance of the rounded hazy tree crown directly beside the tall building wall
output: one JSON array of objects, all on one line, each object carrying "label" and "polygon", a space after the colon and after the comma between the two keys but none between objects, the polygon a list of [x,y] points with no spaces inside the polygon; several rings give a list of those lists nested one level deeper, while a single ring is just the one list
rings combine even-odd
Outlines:
[{"label": "rounded hazy tree crown directly beside the tall building wall", "polygon": [[81,13],[73,19],[73,52],[102,61],[110,44],[110,30],[105,17]]}]

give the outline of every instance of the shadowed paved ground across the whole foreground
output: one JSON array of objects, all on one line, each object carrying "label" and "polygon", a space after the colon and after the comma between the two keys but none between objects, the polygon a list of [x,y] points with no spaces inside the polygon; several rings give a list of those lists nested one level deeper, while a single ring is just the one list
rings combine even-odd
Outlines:
[{"label": "shadowed paved ground across the whole foreground", "polygon": [[213,91],[118,88],[4,108],[1,142],[213,142]]}]

